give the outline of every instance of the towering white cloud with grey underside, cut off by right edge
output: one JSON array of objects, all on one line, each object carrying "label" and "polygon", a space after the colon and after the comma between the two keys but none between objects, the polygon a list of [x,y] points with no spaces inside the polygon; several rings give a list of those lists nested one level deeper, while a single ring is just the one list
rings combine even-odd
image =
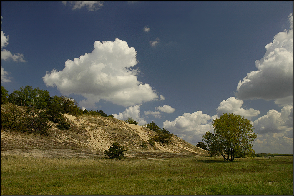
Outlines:
[{"label": "towering white cloud with grey underside, cut off by right edge", "polygon": [[290,29],[276,34],[265,46],[263,58],[255,61],[257,71],[239,81],[238,98],[275,100],[283,106],[293,103],[293,13],[289,21]]}]

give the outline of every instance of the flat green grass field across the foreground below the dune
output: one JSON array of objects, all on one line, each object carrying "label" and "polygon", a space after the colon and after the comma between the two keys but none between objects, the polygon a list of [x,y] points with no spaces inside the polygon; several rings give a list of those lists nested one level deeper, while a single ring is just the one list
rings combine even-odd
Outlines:
[{"label": "flat green grass field across the foreground below the dune", "polygon": [[1,195],[292,195],[293,157],[1,157]]}]

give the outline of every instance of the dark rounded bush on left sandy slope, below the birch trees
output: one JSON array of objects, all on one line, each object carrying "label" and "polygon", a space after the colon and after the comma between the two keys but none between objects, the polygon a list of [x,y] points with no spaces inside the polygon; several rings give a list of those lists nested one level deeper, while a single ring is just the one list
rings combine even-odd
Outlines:
[{"label": "dark rounded bush on left sandy slope, below the birch trees", "polygon": [[48,123],[46,113],[36,108],[28,108],[26,110],[26,116],[24,118],[24,124],[26,131],[29,133],[48,135],[48,129],[50,126]]}]

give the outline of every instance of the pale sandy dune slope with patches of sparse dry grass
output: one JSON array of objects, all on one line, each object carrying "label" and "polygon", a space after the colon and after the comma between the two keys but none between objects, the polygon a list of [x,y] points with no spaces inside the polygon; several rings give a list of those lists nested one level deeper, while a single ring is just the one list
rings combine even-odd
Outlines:
[{"label": "pale sandy dune slope with patches of sparse dry grass", "polygon": [[139,125],[101,116],[72,116],[64,114],[71,123],[69,130],[59,130],[57,123],[49,122],[49,135],[34,135],[17,130],[1,129],[1,155],[23,155],[38,157],[103,157],[104,150],[117,141],[127,150],[129,157],[173,157],[207,155],[202,150],[172,135],[171,143],[155,142],[142,148],[142,141],[157,133]]}]

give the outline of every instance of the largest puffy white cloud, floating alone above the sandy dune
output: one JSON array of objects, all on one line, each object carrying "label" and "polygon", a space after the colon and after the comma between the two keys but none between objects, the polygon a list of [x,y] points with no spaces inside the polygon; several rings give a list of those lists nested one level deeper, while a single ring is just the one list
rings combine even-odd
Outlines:
[{"label": "largest puffy white cloud, floating alone above the sandy dune", "polygon": [[43,81],[47,86],[57,86],[62,94],[84,96],[82,107],[92,108],[100,99],[125,107],[158,100],[149,84],[137,80],[136,51],[127,42],[95,41],[91,53],[67,60],[62,71],[53,69]]}]

